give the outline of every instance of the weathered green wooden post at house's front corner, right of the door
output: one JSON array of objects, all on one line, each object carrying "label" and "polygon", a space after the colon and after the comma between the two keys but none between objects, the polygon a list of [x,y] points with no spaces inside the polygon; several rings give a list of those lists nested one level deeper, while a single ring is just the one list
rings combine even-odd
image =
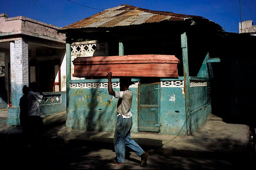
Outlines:
[{"label": "weathered green wooden post at house's front corner, right of the door", "polygon": [[188,70],[188,44],[187,34],[181,34],[181,48],[182,48],[182,61],[183,61],[183,74],[184,74],[184,92],[185,92],[185,107],[186,107],[186,121],[187,121],[187,135],[191,135],[191,99],[189,88],[189,70]]}]

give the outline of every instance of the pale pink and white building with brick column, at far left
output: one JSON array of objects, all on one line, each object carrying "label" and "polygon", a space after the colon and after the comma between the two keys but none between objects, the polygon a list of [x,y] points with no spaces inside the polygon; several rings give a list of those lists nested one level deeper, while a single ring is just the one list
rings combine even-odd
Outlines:
[{"label": "pale pink and white building with brick column, at far left", "polygon": [[0,14],[0,109],[8,110],[4,124],[19,125],[19,99],[30,82],[37,82],[45,95],[42,116],[65,111],[65,34],[58,29],[24,16]]}]

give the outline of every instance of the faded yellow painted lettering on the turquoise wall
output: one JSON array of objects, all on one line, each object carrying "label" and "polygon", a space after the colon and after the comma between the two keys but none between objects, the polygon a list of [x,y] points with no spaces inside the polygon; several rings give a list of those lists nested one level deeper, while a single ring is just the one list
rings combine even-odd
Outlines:
[{"label": "faded yellow painted lettering on the turquoise wall", "polygon": [[110,106],[113,107],[114,96],[103,90],[74,89],[71,96],[78,97],[76,108]]}]

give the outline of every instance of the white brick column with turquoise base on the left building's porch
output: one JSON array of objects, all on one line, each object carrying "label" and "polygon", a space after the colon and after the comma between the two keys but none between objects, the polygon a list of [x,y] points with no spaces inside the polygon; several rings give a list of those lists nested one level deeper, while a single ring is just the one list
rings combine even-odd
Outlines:
[{"label": "white brick column with turquoise base on the left building's porch", "polygon": [[23,86],[29,85],[28,48],[27,42],[23,39],[10,43],[12,107],[8,109],[8,125],[19,125],[19,99],[23,95]]}]

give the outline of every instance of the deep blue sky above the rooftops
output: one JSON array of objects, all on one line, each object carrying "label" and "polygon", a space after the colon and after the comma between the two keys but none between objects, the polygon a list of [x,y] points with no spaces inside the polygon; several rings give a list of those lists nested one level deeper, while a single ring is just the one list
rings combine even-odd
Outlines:
[{"label": "deep blue sky above the rooftops", "polygon": [[[71,1],[91,7],[83,7]],[[102,10],[121,4],[155,11],[199,15],[218,23],[225,31],[238,33],[240,0],[0,0],[0,14],[26,16],[64,27]],[[97,8],[97,9],[92,9]],[[102,9],[102,10],[98,10]],[[241,0],[241,17],[256,23],[256,0]],[[256,24],[254,24],[256,25]]]}]

